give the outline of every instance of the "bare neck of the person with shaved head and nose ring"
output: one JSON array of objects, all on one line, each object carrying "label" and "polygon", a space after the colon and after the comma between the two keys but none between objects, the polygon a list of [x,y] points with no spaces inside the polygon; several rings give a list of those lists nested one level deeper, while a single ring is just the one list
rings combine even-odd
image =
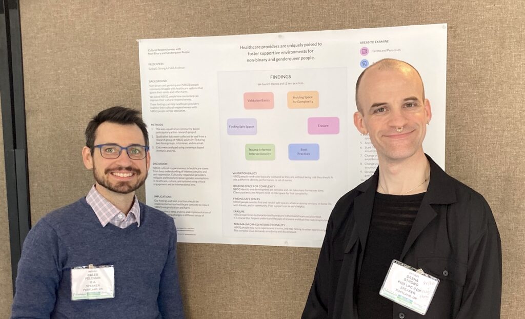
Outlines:
[{"label": "bare neck of the person with shaved head and nose ring", "polygon": [[402,161],[379,161],[377,191],[392,195],[422,193],[428,187],[430,164],[423,150]]}]

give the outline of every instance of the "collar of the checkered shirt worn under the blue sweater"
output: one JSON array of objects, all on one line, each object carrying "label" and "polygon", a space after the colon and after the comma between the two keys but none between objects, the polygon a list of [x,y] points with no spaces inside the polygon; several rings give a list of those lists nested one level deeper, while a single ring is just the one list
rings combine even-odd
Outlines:
[{"label": "collar of the checkered shirt worn under the blue sweater", "polygon": [[[98,191],[95,185],[91,187],[89,193],[86,196],[86,202],[91,206],[95,214],[97,215],[102,227],[106,227],[109,221],[121,213],[121,210],[115,207],[110,201],[104,198]],[[140,204],[137,196],[133,197],[133,206],[129,213],[135,215],[137,220],[137,227],[140,227]]]}]

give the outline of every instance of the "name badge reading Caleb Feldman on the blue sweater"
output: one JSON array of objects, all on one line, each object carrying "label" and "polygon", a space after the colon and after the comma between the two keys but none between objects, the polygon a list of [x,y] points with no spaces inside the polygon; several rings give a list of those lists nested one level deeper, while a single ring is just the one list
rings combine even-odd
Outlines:
[{"label": "name badge reading Caleb Feldman on the blue sweater", "polygon": [[95,300],[115,297],[113,265],[71,267],[71,300]]}]

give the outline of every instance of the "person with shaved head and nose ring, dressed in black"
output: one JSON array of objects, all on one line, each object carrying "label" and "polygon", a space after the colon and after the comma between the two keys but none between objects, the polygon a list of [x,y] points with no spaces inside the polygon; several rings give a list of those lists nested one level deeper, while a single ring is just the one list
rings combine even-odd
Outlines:
[{"label": "person with shaved head and nose ring, dressed in black", "polygon": [[302,318],[499,318],[496,222],[482,195],[424,153],[432,111],[418,71],[377,61],[355,103],[379,167],[335,204]]}]

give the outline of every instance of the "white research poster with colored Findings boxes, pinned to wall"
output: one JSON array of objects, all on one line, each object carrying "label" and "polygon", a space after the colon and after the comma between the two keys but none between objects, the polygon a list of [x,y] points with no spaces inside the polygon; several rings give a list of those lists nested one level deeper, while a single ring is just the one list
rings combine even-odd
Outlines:
[{"label": "white research poster with colored Findings boxes, pinned to wall", "polygon": [[377,167],[353,125],[355,82],[416,67],[444,168],[447,25],[139,40],[150,131],[146,203],[179,242],[320,247],[337,200]]}]

